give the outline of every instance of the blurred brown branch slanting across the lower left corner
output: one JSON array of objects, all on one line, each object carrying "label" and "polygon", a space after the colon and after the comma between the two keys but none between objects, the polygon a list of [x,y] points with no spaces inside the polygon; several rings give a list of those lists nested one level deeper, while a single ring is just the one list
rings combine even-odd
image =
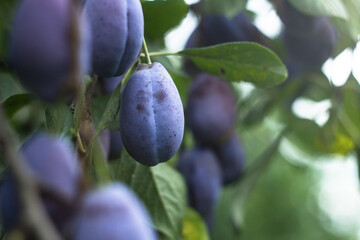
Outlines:
[{"label": "blurred brown branch slanting across the lower left corner", "polygon": [[4,112],[0,106],[0,146],[5,160],[14,177],[19,200],[23,209],[25,224],[30,227],[41,240],[61,240],[61,236],[51,223],[38,194],[38,186],[15,148],[14,138],[9,130]]}]

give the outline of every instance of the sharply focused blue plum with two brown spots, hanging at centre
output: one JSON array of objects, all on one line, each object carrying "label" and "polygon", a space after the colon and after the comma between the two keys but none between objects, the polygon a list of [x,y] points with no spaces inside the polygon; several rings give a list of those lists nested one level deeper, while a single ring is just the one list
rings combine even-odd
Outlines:
[{"label": "sharply focused blue plum with two brown spots, hanging at centre", "polygon": [[139,65],[129,79],[121,100],[120,132],[128,153],[144,165],[165,162],[179,149],[184,109],[160,63]]}]

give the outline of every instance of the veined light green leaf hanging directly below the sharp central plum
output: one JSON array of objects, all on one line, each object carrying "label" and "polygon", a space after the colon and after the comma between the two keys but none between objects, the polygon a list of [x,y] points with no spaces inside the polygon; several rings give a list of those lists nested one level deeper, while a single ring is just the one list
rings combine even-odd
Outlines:
[{"label": "veined light green leaf hanging directly below the sharp central plum", "polygon": [[181,239],[187,198],[184,180],[177,171],[166,163],[141,165],[123,149],[115,178],[128,184],[144,202],[161,239]]}]

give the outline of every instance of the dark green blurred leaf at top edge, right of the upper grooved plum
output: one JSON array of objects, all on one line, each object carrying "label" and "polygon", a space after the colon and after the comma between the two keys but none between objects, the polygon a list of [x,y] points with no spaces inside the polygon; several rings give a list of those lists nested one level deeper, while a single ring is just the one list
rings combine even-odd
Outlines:
[{"label": "dark green blurred leaf at top edge, right of the upper grooved plum", "polygon": [[164,34],[177,26],[188,12],[184,0],[154,0],[142,2],[145,36],[163,39]]}]

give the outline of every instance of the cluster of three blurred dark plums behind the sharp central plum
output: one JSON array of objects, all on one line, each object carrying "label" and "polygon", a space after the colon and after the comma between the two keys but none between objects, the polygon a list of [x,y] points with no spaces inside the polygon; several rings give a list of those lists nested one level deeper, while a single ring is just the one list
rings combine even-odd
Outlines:
[{"label": "cluster of three blurred dark plums behind the sharp central plum", "polygon": [[211,230],[216,201],[223,184],[241,176],[244,153],[234,131],[235,96],[223,79],[198,75],[188,95],[186,120],[196,147],[181,153],[178,170],[188,186],[189,205]]}]

